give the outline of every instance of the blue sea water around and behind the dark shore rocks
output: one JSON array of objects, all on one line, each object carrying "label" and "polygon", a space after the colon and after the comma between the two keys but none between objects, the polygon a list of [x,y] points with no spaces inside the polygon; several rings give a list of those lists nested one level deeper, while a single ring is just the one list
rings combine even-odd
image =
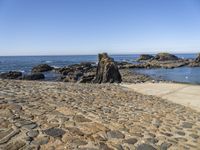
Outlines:
[{"label": "blue sea water around and behind the dark shore rocks", "polygon": [[[111,55],[115,61],[127,61],[135,63],[140,54]],[[196,54],[176,54],[180,58],[195,58]],[[49,64],[54,67],[64,67],[80,62],[96,63],[97,55],[74,55],[74,56],[0,56],[0,72],[21,71],[30,73],[31,69],[38,64]],[[176,82],[200,84],[200,68],[182,67],[175,69],[136,69],[139,73],[150,75],[155,79],[164,79]],[[49,76],[49,74],[46,74]]]}]

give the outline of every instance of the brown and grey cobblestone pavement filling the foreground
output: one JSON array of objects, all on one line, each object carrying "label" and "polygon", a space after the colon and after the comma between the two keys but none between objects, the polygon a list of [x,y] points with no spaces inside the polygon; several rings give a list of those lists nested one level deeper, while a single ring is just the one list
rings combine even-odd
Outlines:
[{"label": "brown and grey cobblestone pavement filling the foreground", "polygon": [[200,113],[119,85],[0,80],[2,150],[199,149]]}]

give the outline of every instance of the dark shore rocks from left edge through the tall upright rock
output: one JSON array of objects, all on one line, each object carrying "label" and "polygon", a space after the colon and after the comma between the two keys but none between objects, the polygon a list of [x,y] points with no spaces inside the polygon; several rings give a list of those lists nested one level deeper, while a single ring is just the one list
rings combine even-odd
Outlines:
[{"label": "dark shore rocks from left edge through the tall upright rock", "polygon": [[61,75],[60,81],[79,83],[120,83],[122,81],[118,66],[114,59],[106,53],[99,54],[98,66],[90,62],[73,64],[63,68],[53,68],[47,64],[33,67],[31,74],[10,71],[0,74],[3,79],[42,80],[43,72],[54,71]]}]

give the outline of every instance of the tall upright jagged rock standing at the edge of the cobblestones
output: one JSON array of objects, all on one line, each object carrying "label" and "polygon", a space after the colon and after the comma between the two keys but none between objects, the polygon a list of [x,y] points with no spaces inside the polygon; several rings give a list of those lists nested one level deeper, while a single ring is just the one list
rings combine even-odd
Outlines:
[{"label": "tall upright jagged rock standing at the edge of the cobblestones", "polygon": [[98,57],[99,62],[94,83],[120,83],[122,78],[114,59],[110,58],[107,53],[99,54]]}]

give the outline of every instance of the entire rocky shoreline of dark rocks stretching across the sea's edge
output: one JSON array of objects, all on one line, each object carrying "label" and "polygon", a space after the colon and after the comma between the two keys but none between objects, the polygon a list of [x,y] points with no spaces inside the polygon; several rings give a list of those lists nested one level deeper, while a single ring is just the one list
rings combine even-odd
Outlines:
[{"label": "entire rocky shoreline of dark rocks stretching across the sea's edge", "polygon": [[[102,56],[101,56],[102,55]],[[101,57],[103,58],[101,60]],[[106,82],[158,82],[159,79],[152,79],[147,75],[134,72],[133,69],[152,69],[165,68],[173,69],[178,67],[200,67],[200,54],[195,59],[178,58],[169,53],[159,53],[155,56],[142,54],[137,63],[115,62],[106,53],[100,54],[99,63],[96,65],[92,62],[83,62],[73,64],[62,68],[54,68],[47,64],[39,64],[32,68],[31,74],[22,74],[18,71],[1,73],[2,79],[19,79],[19,80],[44,80],[45,72],[56,74],[58,77],[55,81],[78,82],[78,83],[106,83]],[[99,72],[98,72],[99,70]],[[122,73],[121,76],[119,74]],[[123,78],[123,79],[122,79]]]}]

